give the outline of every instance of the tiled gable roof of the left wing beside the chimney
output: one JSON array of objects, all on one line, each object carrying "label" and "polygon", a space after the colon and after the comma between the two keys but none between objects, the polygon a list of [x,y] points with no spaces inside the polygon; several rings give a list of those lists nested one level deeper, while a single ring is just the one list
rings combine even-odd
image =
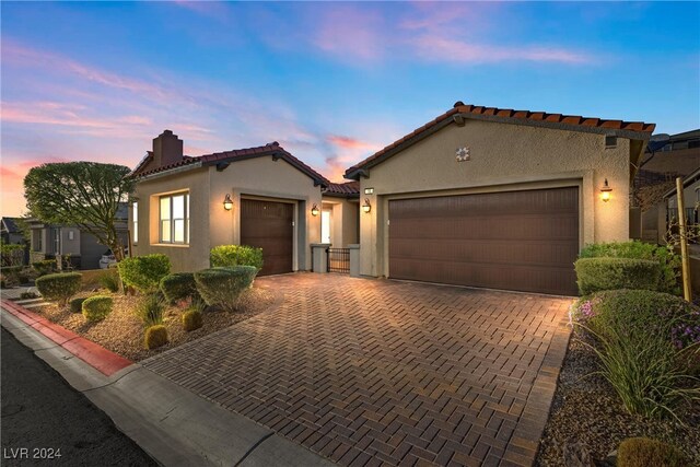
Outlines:
[{"label": "tiled gable roof of the left wing beside the chimney", "polygon": [[314,185],[326,187],[328,186],[328,184],[330,184],[330,182],[328,182],[326,177],[314,171],[308,165],[304,164],[302,161],[293,156],[290,152],[285,151],[284,148],[282,148],[277,141],[255,148],[234,149],[231,151],[214,152],[196,157],[184,155],[182,161],[160,167],[149,167],[149,164],[153,161],[153,152],[148,151],[145,156],[141,160],[141,162],[139,162],[136,168],[127,175],[127,177],[133,177],[138,179],[148,175],[153,175],[178,167],[196,168],[217,165],[218,167],[222,167],[223,170],[233,162],[245,161],[247,159],[261,157],[266,155],[271,155],[273,160],[281,159],[288,162],[293,167],[311,177],[314,180]]}]

